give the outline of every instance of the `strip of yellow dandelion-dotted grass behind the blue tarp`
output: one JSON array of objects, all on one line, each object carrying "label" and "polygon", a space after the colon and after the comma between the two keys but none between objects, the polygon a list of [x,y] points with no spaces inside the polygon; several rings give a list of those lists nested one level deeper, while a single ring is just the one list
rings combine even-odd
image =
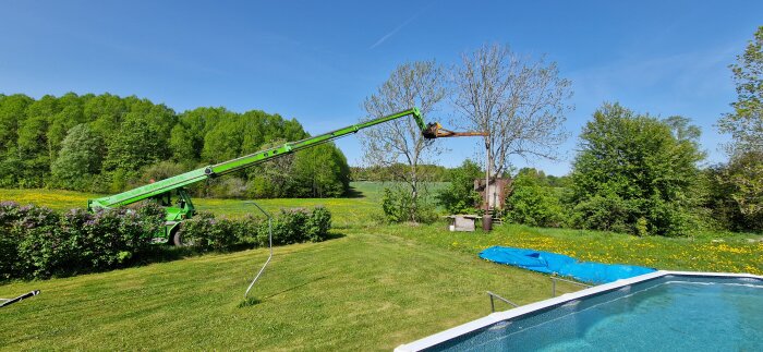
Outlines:
[{"label": "strip of yellow dandelion-dotted grass behind the blue tarp", "polygon": [[537,229],[504,224],[489,233],[447,232],[444,226],[380,227],[393,234],[476,256],[494,245],[566,254],[581,260],[631,264],[665,270],[749,272],[763,275],[763,236],[714,236],[698,233],[690,239],[633,235],[566,229]]}]

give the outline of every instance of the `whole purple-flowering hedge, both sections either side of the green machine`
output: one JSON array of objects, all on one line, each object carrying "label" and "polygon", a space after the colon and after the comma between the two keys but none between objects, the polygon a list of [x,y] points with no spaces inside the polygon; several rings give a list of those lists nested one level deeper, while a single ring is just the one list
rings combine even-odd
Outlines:
[{"label": "whole purple-flowering hedge, both sections either side of the green machine", "polygon": [[[0,281],[71,276],[152,262],[162,252],[152,245],[164,231],[165,210],[153,203],[95,214],[72,209],[60,214],[45,207],[0,203]],[[272,221],[272,244],[318,242],[328,238],[331,214],[323,207],[281,210]],[[199,214],[181,224],[195,248],[230,251],[266,246],[268,222]],[[157,248],[159,251],[157,252]],[[160,255],[160,254],[159,254]]]}]

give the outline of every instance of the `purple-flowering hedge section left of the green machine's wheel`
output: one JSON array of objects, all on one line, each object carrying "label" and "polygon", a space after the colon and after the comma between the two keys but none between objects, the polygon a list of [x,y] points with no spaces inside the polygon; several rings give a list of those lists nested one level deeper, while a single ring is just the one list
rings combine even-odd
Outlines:
[{"label": "purple-flowering hedge section left of the green machine's wheel", "polygon": [[123,267],[162,230],[155,204],[92,214],[0,203],[0,279],[49,278]]}]

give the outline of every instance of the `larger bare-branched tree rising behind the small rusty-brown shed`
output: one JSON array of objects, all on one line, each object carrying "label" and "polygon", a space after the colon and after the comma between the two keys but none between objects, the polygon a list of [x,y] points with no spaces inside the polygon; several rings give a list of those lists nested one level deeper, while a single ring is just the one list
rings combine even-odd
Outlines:
[{"label": "larger bare-branched tree rising behind the small rusty-brown shed", "polygon": [[455,69],[453,105],[465,128],[484,137],[488,177],[508,171],[512,156],[553,158],[564,142],[570,81],[556,63],[485,45],[461,57]]}]

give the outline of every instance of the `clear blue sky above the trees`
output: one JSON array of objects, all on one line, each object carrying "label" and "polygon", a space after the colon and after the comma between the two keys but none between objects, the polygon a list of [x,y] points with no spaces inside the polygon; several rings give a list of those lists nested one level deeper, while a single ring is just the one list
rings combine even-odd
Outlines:
[{"label": "clear blue sky above the trees", "polygon": [[[562,160],[603,101],[691,118],[707,162],[736,94],[727,68],[763,1],[16,1],[0,0],[0,93],[136,95],[177,111],[222,106],[296,118],[315,134],[354,123],[361,102],[404,61],[458,62],[485,43],[545,54],[572,81]],[[446,108],[447,110],[447,108]],[[443,116],[427,120],[446,120]],[[355,137],[338,145],[361,162]],[[448,141],[440,163],[479,157]]]}]

